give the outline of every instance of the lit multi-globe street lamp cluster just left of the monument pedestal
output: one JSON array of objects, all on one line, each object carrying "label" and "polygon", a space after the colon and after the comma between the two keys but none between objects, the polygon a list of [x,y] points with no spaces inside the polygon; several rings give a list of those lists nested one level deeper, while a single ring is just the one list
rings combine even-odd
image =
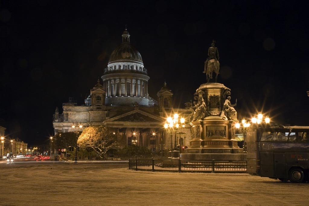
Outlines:
[{"label": "lit multi-globe street lamp cluster just left of the monument pedestal", "polygon": [[[172,143],[172,140],[173,140],[173,134],[175,135],[175,145],[174,147],[176,148],[176,141],[177,141],[177,132],[181,129],[181,128],[184,128],[184,118],[181,117],[180,118],[180,124],[181,124],[181,127],[180,125],[178,124],[179,122],[179,119],[178,119],[178,114],[177,112],[174,113],[174,119],[169,116],[167,117],[167,121],[165,122],[164,124],[164,128],[165,130],[171,135],[171,150],[172,150],[172,147],[173,147],[173,143]],[[179,145],[179,152],[181,153],[181,149],[180,149],[181,145]]]}]

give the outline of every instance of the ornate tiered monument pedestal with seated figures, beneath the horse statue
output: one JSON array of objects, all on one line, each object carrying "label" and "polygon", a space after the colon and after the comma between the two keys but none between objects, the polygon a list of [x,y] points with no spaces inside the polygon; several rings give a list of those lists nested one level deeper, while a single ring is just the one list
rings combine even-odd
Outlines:
[{"label": "ornate tiered monument pedestal with seated figures, beneath the horse statue", "polygon": [[[191,141],[181,160],[246,160],[235,140],[237,113],[226,95],[230,89],[220,83],[202,84],[191,116]],[[204,106],[203,106],[204,105]]]}]

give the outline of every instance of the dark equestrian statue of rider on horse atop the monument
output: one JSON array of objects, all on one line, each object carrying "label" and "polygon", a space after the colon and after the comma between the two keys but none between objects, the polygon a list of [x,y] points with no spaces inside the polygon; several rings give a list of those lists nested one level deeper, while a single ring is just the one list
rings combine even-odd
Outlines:
[{"label": "dark equestrian statue of rider on horse atop the monument", "polygon": [[219,52],[218,48],[215,47],[215,41],[211,43],[211,47],[208,48],[208,57],[205,61],[204,72],[206,74],[207,83],[212,79],[212,73],[216,73],[216,82],[219,74],[220,63],[219,63]]}]

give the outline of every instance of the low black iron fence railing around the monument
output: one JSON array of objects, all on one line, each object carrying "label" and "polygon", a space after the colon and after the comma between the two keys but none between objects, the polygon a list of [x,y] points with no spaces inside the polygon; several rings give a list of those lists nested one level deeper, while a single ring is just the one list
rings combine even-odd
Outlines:
[{"label": "low black iron fence railing around the monument", "polygon": [[129,159],[129,169],[176,172],[246,172],[247,160]]}]

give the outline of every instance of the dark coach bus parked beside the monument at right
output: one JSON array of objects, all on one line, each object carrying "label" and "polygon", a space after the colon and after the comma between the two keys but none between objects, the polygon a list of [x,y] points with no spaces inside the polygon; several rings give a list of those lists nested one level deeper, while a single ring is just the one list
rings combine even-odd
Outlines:
[{"label": "dark coach bus parked beside the monument at right", "polygon": [[254,124],[247,129],[247,173],[301,183],[309,180],[309,127]]}]

